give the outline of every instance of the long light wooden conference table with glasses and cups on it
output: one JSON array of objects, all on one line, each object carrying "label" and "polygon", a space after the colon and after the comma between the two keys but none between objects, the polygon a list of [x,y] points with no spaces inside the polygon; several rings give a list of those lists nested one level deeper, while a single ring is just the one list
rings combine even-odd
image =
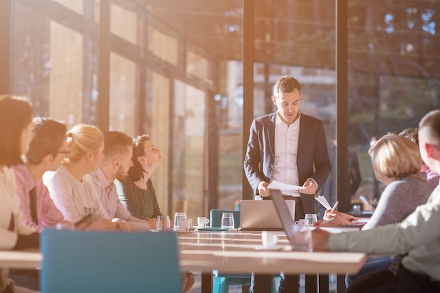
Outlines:
[{"label": "long light wooden conference table with glasses and cups on it", "polygon": [[[331,230],[331,229],[330,229]],[[339,231],[336,231],[339,232]],[[212,292],[212,270],[222,273],[345,274],[356,273],[366,260],[363,253],[320,253],[291,250],[283,231],[278,232],[277,250],[257,250],[261,231],[177,233],[181,270],[202,272],[202,292]],[[39,250],[0,251],[0,267],[40,268]],[[328,292],[325,285],[320,286]],[[256,288],[258,292],[258,288]],[[306,288],[306,292],[309,292]],[[314,289],[316,292],[316,289]]]}]

